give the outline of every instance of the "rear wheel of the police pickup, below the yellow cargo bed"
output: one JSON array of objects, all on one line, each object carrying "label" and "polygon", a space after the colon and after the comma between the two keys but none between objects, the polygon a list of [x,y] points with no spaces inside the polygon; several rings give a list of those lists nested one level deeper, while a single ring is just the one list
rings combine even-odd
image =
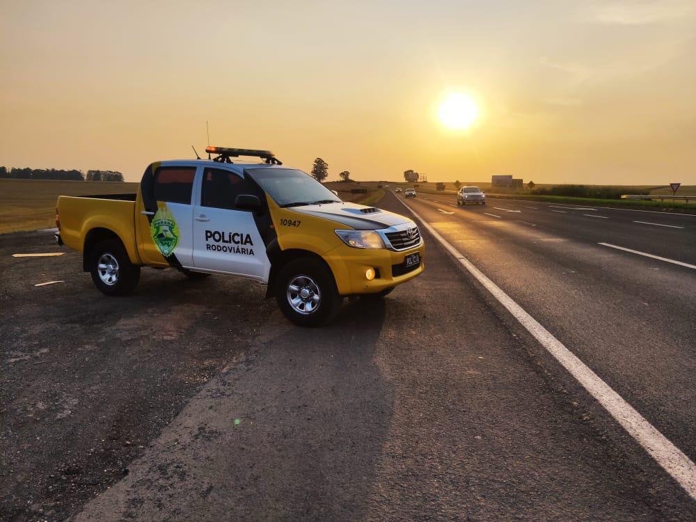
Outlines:
[{"label": "rear wheel of the police pickup, below the yellow cargo bed", "polygon": [[118,239],[104,239],[90,249],[89,269],[102,294],[127,295],[138,285],[140,267],[132,264]]}]

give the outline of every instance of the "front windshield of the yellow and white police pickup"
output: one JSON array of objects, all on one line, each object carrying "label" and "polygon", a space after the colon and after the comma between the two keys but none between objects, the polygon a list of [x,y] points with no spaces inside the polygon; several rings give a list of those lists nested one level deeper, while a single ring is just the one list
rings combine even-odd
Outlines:
[{"label": "front windshield of the yellow and white police pickup", "polygon": [[246,173],[281,207],[341,203],[335,193],[294,168],[247,168]]}]

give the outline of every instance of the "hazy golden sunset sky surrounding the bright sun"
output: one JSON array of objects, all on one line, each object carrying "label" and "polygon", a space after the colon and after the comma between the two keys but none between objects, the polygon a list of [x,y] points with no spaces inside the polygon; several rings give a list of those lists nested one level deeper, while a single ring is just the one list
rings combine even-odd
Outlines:
[{"label": "hazy golden sunset sky surrounding the bright sun", "polygon": [[[0,165],[696,184],[696,1],[0,0]],[[481,116],[445,129],[468,93]]]}]

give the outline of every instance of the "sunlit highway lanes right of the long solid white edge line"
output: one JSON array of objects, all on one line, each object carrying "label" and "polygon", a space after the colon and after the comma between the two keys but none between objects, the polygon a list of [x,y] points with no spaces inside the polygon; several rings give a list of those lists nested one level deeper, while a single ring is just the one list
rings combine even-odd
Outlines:
[{"label": "sunlit highway lanes right of the long solid white edge line", "polygon": [[457,207],[433,194],[407,203],[696,458],[696,216],[498,198]]}]

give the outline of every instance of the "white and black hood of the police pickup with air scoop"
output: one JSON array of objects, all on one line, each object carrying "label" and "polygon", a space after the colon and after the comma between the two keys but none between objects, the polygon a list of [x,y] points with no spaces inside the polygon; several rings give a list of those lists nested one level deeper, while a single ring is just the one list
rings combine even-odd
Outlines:
[{"label": "white and black hood of the police pickup with air scoop", "polygon": [[326,203],[324,205],[307,205],[306,207],[290,207],[298,214],[309,214],[341,223],[356,230],[379,230],[402,223],[412,223],[399,214],[388,212],[375,207],[365,207],[356,203]]}]

